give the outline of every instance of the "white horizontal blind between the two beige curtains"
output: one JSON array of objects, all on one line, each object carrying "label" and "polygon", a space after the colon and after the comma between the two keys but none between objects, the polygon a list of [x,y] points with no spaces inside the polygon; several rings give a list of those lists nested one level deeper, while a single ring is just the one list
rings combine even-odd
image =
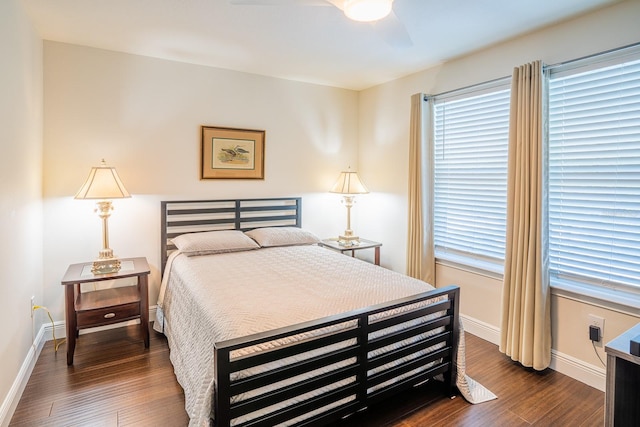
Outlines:
[{"label": "white horizontal blind between the two beige curtains", "polygon": [[434,102],[438,257],[504,262],[509,95],[502,88]]}]

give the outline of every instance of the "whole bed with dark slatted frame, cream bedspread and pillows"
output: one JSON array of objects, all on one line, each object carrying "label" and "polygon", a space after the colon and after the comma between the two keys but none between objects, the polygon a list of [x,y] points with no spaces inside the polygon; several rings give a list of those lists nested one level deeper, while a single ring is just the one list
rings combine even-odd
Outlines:
[{"label": "whole bed with dark slatted frame, cream bedspread and pillows", "polygon": [[454,395],[458,287],[316,245],[300,198],[168,201],[161,218],[154,327],[190,425],[324,425],[434,377]]}]

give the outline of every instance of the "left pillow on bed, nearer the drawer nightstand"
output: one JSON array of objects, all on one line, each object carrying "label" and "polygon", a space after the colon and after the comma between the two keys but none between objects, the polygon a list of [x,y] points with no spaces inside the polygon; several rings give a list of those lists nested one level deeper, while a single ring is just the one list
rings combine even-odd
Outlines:
[{"label": "left pillow on bed, nearer the drawer nightstand", "polygon": [[172,240],[180,252],[187,256],[248,251],[260,247],[240,230],[187,233]]}]

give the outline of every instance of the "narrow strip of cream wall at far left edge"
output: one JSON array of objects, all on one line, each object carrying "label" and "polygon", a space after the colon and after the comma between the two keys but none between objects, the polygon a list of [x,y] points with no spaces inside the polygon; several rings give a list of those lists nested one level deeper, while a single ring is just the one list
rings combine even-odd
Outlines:
[{"label": "narrow strip of cream wall at far left edge", "polygon": [[[0,2],[0,424],[33,357],[42,301],[42,41],[18,0]],[[35,319],[39,329],[41,316]]]}]

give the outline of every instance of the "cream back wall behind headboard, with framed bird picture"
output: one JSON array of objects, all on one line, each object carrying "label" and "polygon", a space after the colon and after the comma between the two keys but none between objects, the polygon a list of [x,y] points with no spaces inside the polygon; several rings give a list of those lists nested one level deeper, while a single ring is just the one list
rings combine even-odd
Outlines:
[{"label": "cream back wall behind headboard, with framed bird picture", "polygon": [[[148,258],[151,305],[161,200],[302,196],[305,228],[341,231],[327,191],[357,166],[356,92],[48,41],[44,70],[44,295],[56,320],[67,266],[100,249],[94,204],[73,195],[101,158],[133,194],[114,201],[110,246]],[[266,130],[265,179],[199,180],[201,125]]]}]

